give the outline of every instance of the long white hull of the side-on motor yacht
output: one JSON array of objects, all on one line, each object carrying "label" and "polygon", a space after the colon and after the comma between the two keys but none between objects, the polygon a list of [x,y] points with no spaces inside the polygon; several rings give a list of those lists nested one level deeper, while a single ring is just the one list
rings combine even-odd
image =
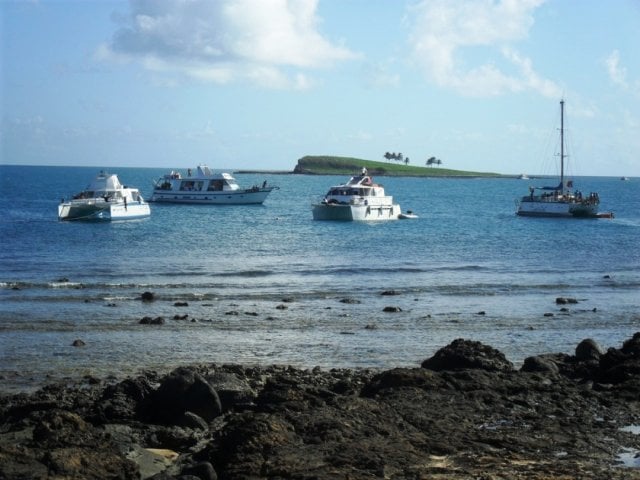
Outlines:
[{"label": "long white hull of the side-on motor yacht", "polygon": [[200,203],[205,205],[259,205],[275,187],[229,192],[169,192],[154,190],[149,202]]}]

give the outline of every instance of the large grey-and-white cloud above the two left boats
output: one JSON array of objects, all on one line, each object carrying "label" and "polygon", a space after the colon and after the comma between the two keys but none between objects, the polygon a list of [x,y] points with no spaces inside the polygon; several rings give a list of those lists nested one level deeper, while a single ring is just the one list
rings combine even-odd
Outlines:
[{"label": "large grey-and-white cloud above the two left boats", "polygon": [[357,54],[318,31],[318,0],[131,0],[96,56],[215,83],[306,89],[303,73]]}]

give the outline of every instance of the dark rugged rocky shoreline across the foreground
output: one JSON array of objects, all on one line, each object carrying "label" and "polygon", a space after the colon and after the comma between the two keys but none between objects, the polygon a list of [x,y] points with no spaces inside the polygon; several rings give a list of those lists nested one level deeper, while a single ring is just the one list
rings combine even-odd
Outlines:
[{"label": "dark rugged rocky shoreline across the foreground", "polygon": [[0,396],[2,479],[640,478],[640,333],[386,371],[198,365]]}]

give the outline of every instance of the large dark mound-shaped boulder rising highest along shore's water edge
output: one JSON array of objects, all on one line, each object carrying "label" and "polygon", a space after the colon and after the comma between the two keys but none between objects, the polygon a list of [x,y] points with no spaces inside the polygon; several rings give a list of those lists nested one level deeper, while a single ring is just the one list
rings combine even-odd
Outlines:
[{"label": "large dark mound-shaped boulder rising highest along shore's water edge", "polygon": [[513,364],[502,352],[480,342],[454,340],[436,354],[422,362],[422,368],[430,370],[460,370],[474,368],[489,371],[510,371]]}]

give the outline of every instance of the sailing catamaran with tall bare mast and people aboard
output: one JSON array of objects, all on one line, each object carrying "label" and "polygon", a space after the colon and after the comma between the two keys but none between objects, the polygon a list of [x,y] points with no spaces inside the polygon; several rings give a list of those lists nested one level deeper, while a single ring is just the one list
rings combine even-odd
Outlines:
[{"label": "sailing catamaran with tall bare mast and people aboard", "polygon": [[516,214],[527,217],[587,217],[597,218],[600,197],[597,192],[582,194],[573,188],[573,181],[565,181],[564,161],[564,100],[560,101],[560,182],[550,187],[529,187],[529,195],[517,202]]}]

